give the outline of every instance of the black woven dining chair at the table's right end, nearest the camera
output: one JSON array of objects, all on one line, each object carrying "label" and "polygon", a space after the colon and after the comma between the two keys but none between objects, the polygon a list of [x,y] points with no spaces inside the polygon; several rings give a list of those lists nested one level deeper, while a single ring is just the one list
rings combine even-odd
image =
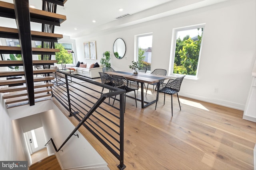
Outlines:
[{"label": "black woven dining chair at the table's right end, nearest the camera", "polygon": [[[178,102],[180,105],[180,100],[178,92],[180,91],[180,86],[185,76],[178,77],[176,79],[169,79],[167,83],[158,82],[157,84],[157,94],[156,94],[156,105],[159,98],[159,93],[164,93],[164,103],[165,103],[165,94],[170,94],[171,99],[173,94],[177,94]],[[155,107],[156,109],[156,107]],[[181,107],[180,107],[181,110]]]}]

